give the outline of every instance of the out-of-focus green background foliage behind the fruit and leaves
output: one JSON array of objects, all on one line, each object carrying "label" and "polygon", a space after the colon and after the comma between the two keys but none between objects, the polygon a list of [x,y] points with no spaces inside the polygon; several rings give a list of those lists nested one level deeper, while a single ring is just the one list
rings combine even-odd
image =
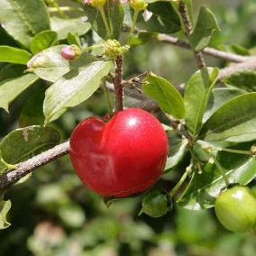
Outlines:
[{"label": "out-of-focus green background foliage behind the fruit and leaves", "polygon": [[[256,52],[255,0],[196,0],[195,4],[196,14],[200,5],[207,5],[215,13],[222,31],[215,35],[213,47],[240,54]],[[224,65],[222,60],[206,61],[209,66]],[[134,47],[124,65],[125,78],[151,70],[174,85],[186,81],[196,69],[191,52],[155,42]],[[0,110],[0,137],[18,127],[22,103],[36,88],[19,96],[11,105],[11,114]],[[66,139],[80,120],[105,113],[103,93],[98,91],[52,125]],[[177,168],[174,172],[161,181],[165,187],[171,187],[181,171]],[[138,216],[138,198],[116,201],[107,209],[101,197],[82,186],[69,156],[37,169],[32,178],[10,189],[5,198],[12,200],[8,215],[12,226],[0,231],[1,256],[256,255],[255,235],[225,231],[211,210],[174,208],[160,218]]]}]

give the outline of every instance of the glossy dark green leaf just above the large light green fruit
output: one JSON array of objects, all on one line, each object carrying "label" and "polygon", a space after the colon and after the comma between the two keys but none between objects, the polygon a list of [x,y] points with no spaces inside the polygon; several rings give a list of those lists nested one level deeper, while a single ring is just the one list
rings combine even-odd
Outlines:
[{"label": "glossy dark green leaf just above the large light green fruit", "polygon": [[[233,146],[236,150],[250,150],[251,143]],[[250,155],[239,155],[225,151],[218,152],[218,160],[226,169],[225,175],[230,183],[246,185],[256,177],[256,160]],[[207,163],[201,171],[194,174],[184,194],[178,199],[178,204],[187,209],[199,210],[215,206],[215,198],[226,187],[224,178],[215,164]]]}]

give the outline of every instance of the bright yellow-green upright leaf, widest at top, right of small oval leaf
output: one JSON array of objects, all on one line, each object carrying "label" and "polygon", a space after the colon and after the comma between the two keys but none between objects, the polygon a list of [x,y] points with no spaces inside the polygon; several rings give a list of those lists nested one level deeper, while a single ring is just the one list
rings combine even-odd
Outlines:
[{"label": "bright yellow-green upright leaf, widest at top, right of small oval leaf", "polygon": [[218,77],[218,69],[207,68],[198,70],[187,81],[184,103],[186,107],[186,125],[196,135],[202,125],[207,103]]}]

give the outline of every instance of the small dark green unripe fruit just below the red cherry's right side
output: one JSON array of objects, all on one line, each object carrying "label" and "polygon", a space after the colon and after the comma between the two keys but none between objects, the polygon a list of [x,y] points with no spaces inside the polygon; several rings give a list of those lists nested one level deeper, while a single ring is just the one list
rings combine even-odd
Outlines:
[{"label": "small dark green unripe fruit just below the red cherry's right side", "polygon": [[159,191],[151,191],[142,200],[142,211],[151,217],[160,217],[169,210],[168,199],[166,195]]}]

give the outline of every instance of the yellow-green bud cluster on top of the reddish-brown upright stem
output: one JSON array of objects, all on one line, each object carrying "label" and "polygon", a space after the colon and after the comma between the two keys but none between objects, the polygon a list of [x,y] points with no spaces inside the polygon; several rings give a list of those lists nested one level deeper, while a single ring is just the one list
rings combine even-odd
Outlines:
[{"label": "yellow-green bud cluster on top of the reddish-brown upright stem", "polygon": [[116,40],[107,40],[103,44],[103,53],[109,59],[114,59],[119,55],[123,55],[129,50],[128,45],[121,46],[119,41]]}]

